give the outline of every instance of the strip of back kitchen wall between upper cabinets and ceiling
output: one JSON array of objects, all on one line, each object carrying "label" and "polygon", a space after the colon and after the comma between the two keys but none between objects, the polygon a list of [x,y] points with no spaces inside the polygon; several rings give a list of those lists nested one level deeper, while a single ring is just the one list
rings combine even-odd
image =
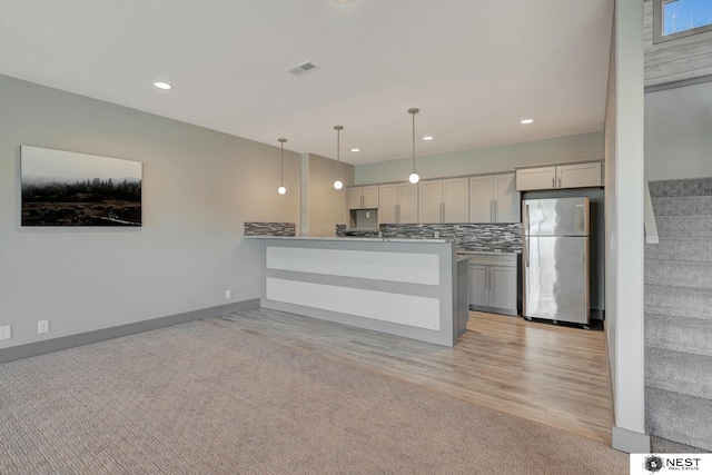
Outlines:
[{"label": "strip of back kitchen wall between upper cabinets and ceiling", "polygon": [[[416,157],[421,179],[512,171],[525,165],[603,158],[603,131]],[[356,166],[356,185],[407,181],[412,159]]]}]

